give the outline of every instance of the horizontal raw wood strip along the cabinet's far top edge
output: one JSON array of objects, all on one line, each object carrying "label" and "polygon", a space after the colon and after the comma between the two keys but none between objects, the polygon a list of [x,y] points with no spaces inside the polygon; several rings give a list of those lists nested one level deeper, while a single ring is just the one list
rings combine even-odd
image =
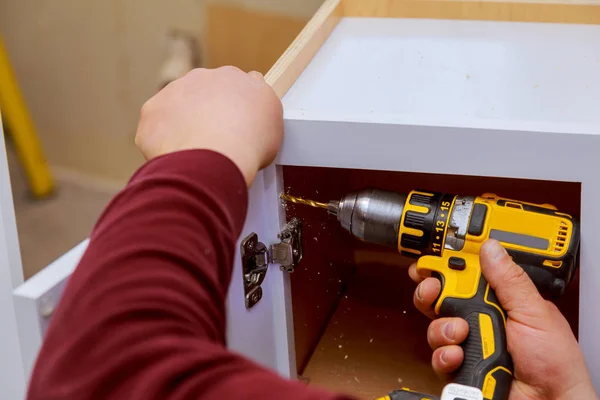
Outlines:
[{"label": "horizontal raw wood strip along the cabinet's far top edge", "polygon": [[600,24],[600,1],[343,0],[344,17]]}]

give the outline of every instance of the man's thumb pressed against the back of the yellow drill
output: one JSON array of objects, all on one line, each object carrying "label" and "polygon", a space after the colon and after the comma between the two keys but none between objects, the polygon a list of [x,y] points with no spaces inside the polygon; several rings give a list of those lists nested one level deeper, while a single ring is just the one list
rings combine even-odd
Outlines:
[{"label": "man's thumb pressed against the back of the yellow drill", "polygon": [[490,239],[481,246],[480,260],[483,275],[507,312],[533,310],[536,302],[543,302],[529,276],[497,240]]}]

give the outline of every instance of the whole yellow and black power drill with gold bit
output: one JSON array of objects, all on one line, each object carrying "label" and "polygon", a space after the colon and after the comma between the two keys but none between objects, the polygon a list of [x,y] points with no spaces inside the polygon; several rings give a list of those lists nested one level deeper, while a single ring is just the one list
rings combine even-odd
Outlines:
[{"label": "whole yellow and black power drill with gold bit", "polygon": [[[367,189],[329,203],[284,198],[327,208],[355,237],[417,258],[417,270],[440,280],[436,314],[469,324],[464,361],[442,400],[508,398],[513,364],[506,345],[507,316],[479,264],[479,250],[488,238],[502,243],[545,297],[562,295],[575,274],[579,222],[549,204],[422,190],[406,195]],[[401,389],[387,398],[437,397]]]}]

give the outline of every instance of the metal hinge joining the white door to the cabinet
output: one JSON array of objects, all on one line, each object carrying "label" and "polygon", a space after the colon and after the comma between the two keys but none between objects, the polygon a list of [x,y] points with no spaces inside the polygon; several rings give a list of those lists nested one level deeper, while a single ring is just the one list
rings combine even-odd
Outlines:
[{"label": "metal hinge joining the white door to the cabinet", "polygon": [[258,241],[252,232],[241,244],[242,272],[246,308],[252,308],[262,298],[261,284],[267,274],[269,264],[279,264],[280,269],[294,272],[302,260],[302,223],[293,218],[277,235],[279,243],[267,246]]}]

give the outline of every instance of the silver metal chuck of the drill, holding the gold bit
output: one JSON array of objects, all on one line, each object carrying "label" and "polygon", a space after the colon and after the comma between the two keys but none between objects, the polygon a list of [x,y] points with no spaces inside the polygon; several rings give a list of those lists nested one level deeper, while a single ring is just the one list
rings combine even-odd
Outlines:
[{"label": "silver metal chuck of the drill, holding the gold bit", "polygon": [[404,194],[366,189],[329,203],[329,212],[358,239],[397,248],[404,203]]}]

